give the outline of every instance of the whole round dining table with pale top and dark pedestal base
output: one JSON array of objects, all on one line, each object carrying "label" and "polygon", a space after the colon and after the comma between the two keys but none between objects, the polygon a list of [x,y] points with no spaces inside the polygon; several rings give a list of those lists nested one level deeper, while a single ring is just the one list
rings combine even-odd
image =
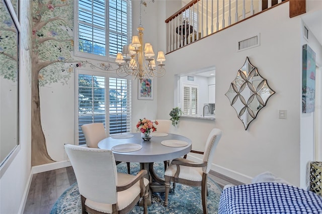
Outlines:
[{"label": "whole round dining table with pale top and dark pedestal base", "polygon": [[[141,169],[148,171],[146,174],[146,178],[150,180],[148,205],[151,204],[152,192],[165,191],[165,181],[155,174],[153,162],[163,161],[166,169],[169,160],[188,154],[192,148],[192,142],[189,138],[170,133],[157,134],[159,137],[152,137],[149,141],[144,141],[141,133],[128,133],[122,134],[124,136],[114,135],[98,143],[100,149],[112,150],[116,161],[138,162]],[[116,147],[123,148],[123,151],[115,151]],[[131,148],[133,148],[133,151],[126,152]]]}]

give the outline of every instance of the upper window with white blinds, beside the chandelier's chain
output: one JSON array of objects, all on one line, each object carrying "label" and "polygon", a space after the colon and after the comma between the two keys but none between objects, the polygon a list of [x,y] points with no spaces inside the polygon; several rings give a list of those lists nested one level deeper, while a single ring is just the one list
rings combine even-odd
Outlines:
[{"label": "upper window with white blinds, beside the chandelier's chain", "polygon": [[75,1],[75,14],[76,56],[107,60],[130,41],[130,0]]}]

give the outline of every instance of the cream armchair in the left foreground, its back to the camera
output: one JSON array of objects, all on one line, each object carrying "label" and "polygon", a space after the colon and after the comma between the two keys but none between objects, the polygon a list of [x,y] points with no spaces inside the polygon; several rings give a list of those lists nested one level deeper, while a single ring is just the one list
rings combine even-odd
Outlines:
[{"label": "cream armchair in the left foreground, its back to the camera", "polygon": [[83,213],[127,213],[140,198],[147,213],[146,170],[136,176],[117,172],[111,150],[67,144],[65,151],[75,172]]}]

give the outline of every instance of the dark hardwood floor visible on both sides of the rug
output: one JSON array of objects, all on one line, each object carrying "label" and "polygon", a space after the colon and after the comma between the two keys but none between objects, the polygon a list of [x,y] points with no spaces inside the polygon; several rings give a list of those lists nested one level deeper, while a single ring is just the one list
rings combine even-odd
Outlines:
[{"label": "dark hardwood floor visible on both sides of the rug", "polygon": [[[243,184],[214,171],[209,172],[209,177],[221,188],[226,184]],[[24,213],[50,213],[55,201],[74,182],[76,182],[76,178],[71,166],[34,174]]]}]

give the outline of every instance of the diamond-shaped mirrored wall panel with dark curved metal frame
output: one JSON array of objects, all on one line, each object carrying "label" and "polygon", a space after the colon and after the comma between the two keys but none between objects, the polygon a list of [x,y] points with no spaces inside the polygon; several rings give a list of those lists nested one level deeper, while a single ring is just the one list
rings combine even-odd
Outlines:
[{"label": "diamond-shaped mirrored wall panel with dark curved metal frame", "polygon": [[243,122],[245,130],[256,118],[258,112],[266,105],[268,98],[275,93],[248,57],[231,82],[225,95],[235,109],[238,118]]}]

